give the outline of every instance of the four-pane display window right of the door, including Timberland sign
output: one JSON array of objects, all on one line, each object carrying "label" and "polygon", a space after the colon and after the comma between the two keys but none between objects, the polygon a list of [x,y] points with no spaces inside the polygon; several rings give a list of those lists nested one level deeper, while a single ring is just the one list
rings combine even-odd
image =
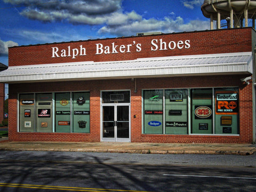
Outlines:
[{"label": "four-pane display window right of the door, including Timberland sign", "polygon": [[143,90],[143,133],[239,134],[238,95],[237,87]]}]

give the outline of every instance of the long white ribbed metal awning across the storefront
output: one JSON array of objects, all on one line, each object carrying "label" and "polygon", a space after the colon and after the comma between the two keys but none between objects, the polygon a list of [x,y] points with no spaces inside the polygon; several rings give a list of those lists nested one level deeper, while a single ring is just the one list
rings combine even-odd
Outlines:
[{"label": "long white ribbed metal awning across the storefront", "polygon": [[252,73],[252,53],[240,52],[17,66],[0,72],[0,82],[28,83]]}]

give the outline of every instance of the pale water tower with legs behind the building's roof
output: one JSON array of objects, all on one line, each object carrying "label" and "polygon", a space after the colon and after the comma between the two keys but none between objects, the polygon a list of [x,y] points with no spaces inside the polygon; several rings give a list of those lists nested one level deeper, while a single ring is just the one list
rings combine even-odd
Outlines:
[{"label": "pale water tower with legs behind the building's roof", "polygon": [[[248,19],[255,28],[256,0],[204,0],[201,10],[206,18],[217,21],[217,29],[221,28],[221,20],[227,21],[230,28],[248,27]],[[244,21],[244,22],[243,22]]]}]

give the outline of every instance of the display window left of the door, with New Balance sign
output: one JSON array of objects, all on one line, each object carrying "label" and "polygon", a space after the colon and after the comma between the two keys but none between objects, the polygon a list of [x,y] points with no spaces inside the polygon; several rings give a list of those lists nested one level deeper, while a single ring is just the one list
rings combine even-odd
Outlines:
[{"label": "display window left of the door, with New Balance sign", "polygon": [[90,132],[90,92],[19,94],[20,132]]}]

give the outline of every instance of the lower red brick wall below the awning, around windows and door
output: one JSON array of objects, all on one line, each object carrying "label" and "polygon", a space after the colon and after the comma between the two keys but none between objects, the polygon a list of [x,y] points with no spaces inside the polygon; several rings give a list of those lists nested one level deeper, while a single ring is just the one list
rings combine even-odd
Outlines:
[{"label": "lower red brick wall below the awning, around windows and door", "polygon": [[[100,141],[100,91],[131,90],[132,142],[252,142],[252,84],[242,85],[243,76],[194,76],[166,78],[138,78],[137,93],[131,79],[102,81],[74,81],[54,83],[27,83],[9,85],[9,139],[11,141]],[[172,89],[191,87],[239,86],[240,135],[172,135],[142,134],[142,89]],[[90,133],[25,133],[17,132],[17,93],[90,91]],[[137,115],[137,118],[133,118]]]}]

